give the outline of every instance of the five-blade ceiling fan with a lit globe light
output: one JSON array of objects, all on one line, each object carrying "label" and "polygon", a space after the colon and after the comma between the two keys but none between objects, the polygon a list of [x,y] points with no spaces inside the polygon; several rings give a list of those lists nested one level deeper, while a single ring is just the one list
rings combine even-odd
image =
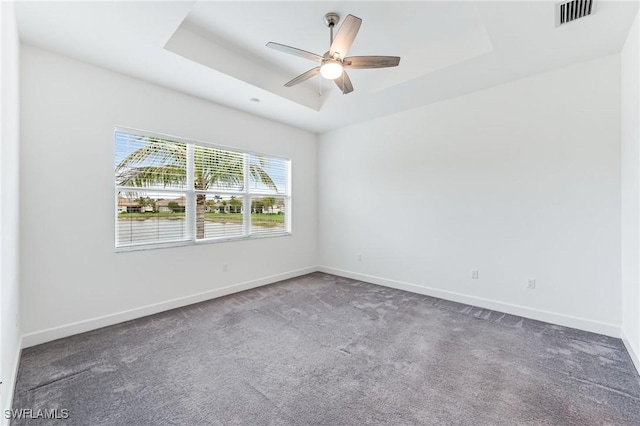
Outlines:
[{"label": "five-blade ceiling fan with a lit globe light", "polygon": [[340,90],[342,90],[342,93],[346,95],[347,93],[353,92],[353,84],[351,84],[351,79],[345,70],[398,66],[400,63],[399,56],[346,56],[358,34],[362,19],[353,15],[347,15],[334,38],[333,27],[336,26],[338,21],[340,21],[340,16],[335,12],[329,12],[324,15],[324,22],[330,31],[330,47],[329,51],[322,56],[284,44],[274,42],[267,43],[267,47],[272,49],[320,62],[319,66],[300,74],[286,83],[286,87],[295,86],[298,83],[302,83],[320,74],[328,80],[333,80]]}]

